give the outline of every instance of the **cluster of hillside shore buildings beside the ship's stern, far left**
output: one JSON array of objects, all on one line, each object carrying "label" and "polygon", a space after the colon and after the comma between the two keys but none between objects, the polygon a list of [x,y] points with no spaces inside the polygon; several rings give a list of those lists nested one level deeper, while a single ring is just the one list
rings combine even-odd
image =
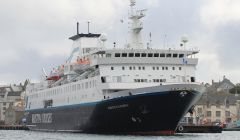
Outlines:
[{"label": "cluster of hillside shore buildings beside the ship's stern, far left", "polygon": [[0,124],[19,124],[24,114],[24,85],[0,86]]}]

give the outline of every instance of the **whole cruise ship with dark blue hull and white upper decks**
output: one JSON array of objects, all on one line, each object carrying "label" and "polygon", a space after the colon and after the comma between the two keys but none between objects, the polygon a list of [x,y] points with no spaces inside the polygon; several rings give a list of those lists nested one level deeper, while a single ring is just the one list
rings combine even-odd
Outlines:
[{"label": "whole cruise ship with dark blue hull and white upper decks", "polygon": [[[26,88],[30,130],[102,134],[174,134],[204,92],[199,50],[155,49],[141,37],[145,10],[130,0],[129,41],[107,47],[106,34],[70,37],[67,61]],[[78,26],[77,26],[78,27]],[[159,47],[160,48],[160,47]]]}]

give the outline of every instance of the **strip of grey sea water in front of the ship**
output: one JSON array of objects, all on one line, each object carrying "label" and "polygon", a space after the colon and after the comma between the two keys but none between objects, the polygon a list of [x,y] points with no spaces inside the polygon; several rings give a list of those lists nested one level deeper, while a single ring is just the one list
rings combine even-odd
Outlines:
[{"label": "strip of grey sea water in front of the ship", "polygon": [[219,134],[176,134],[174,136],[119,136],[0,130],[0,140],[240,140],[240,131],[223,131]]}]

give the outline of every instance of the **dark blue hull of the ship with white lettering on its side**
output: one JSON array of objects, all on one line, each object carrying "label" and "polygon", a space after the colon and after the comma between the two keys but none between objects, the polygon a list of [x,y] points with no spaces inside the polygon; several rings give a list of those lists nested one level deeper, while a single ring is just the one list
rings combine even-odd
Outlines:
[{"label": "dark blue hull of the ship with white lettering on its side", "polygon": [[[201,95],[198,91],[146,93],[95,103],[29,110],[27,125],[31,130],[85,133],[174,132],[180,119]],[[46,121],[45,117],[36,123],[32,120],[33,114],[51,114],[51,118]]]}]

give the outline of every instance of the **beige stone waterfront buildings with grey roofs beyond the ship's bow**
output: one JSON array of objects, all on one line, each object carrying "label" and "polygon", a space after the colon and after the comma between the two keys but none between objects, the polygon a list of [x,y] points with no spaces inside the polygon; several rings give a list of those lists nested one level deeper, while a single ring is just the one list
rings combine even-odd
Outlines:
[{"label": "beige stone waterfront buildings with grey roofs beyond the ship's bow", "polygon": [[206,92],[195,105],[192,114],[188,113],[183,122],[189,124],[230,124],[240,120],[240,94],[231,94],[235,85],[225,76],[222,81],[206,84]]}]

